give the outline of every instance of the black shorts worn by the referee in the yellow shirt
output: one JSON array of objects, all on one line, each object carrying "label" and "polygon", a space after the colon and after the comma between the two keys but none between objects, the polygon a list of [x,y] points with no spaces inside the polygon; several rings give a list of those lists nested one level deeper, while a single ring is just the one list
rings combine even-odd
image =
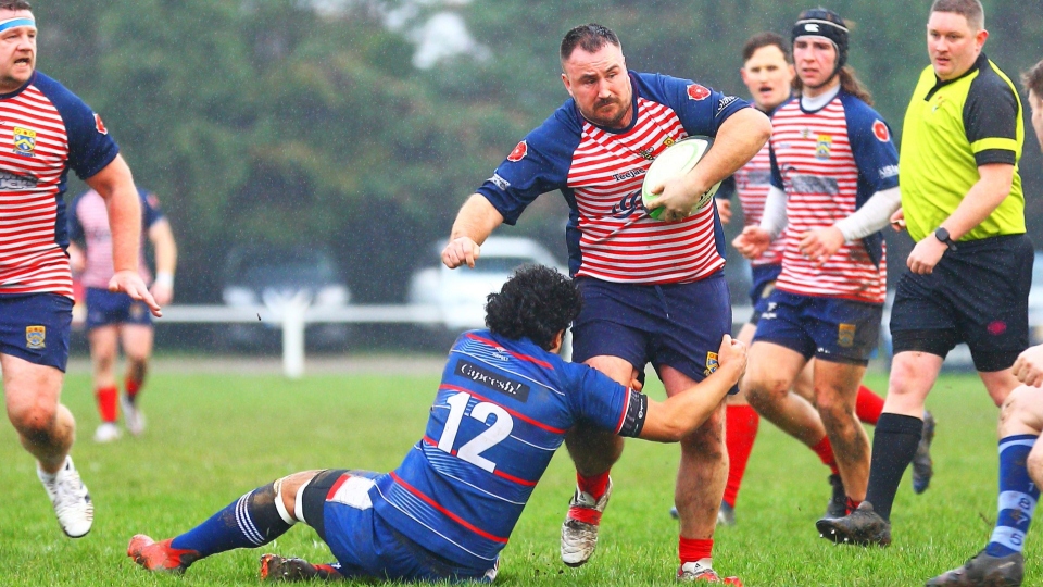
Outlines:
[{"label": "black shorts worn by the referee in the yellow shirt", "polygon": [[1032,241],[1007,235],[957,242],[930,275],[906,271],[891,310],[894,352],[944,358],[959,342],[975,369],[1008,369],[1029,346]]}]

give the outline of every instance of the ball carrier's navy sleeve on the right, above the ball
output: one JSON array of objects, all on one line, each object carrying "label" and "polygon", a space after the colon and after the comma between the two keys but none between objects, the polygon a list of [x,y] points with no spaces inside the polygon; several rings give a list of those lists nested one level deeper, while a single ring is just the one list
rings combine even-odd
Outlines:
[{"label": "ball carrier's navy sleeve on the right, above the ball", "polygon": [[721,123],[750,107],[745,100],[690,79],[662,74],[636,74],[634,79],[640,95],[670,107],[689,135],[716,137]]}]

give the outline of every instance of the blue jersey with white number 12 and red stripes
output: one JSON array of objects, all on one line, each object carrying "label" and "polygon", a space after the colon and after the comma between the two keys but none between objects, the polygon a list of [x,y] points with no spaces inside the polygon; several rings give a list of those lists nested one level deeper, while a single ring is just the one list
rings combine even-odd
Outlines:
[{"label": "blue jersey with white number 12 and red stripes", "polygon": [[488,330],[450,351],[424,438],[369,490],[374,512],[457,564],[489,569],[565,433],[637,436],[645,396],[527,339]]}]

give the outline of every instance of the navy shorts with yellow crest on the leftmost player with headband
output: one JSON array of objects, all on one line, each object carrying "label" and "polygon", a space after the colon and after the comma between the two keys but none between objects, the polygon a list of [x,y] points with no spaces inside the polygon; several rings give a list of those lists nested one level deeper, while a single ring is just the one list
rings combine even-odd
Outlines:
[{"label": "navy shorts with yellow crest on the leftmost player with headband", "polygon": [[0,353],[65,371],[73,300],[58,294],[0,296]]}]

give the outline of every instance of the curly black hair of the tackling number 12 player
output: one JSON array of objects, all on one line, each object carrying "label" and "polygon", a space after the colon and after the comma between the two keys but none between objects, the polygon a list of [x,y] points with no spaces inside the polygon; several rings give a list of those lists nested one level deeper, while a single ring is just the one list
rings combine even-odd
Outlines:
[{"label": "curly black hair of the tackling number 12 player", "polygon": [[528,338],[544,350],[583,307],[575,282],[544,265],[523,265],[486,300],[486,326],[493,334]]}]

